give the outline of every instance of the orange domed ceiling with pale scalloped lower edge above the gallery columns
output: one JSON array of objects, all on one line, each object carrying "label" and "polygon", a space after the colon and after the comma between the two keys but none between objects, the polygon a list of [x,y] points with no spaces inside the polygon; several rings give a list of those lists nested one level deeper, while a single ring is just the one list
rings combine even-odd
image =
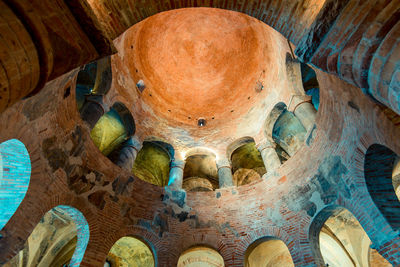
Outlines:
[{"label": "orange domed ceiling with pale scalloped lower edge above the gallery columns", "polygon": [[132,112],[136,135],[184,155],[218,156],[244,136],[261,138],[269,111],[293,94],[289,44],[245,14],[212,8],[163,12],[115,40],[107,96]]}]

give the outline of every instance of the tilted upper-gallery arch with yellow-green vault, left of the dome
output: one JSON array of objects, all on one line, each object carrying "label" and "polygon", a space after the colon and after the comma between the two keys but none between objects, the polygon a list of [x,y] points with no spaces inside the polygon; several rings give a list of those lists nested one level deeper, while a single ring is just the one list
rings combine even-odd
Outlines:
[{"label": "tilted upper-gallery arch with yellow-green vault, left of the dome", "polygon": [[116,102],[95,124],[90,137],[101,153],[108,156],[134,133],[135,121],[130,111]]}]

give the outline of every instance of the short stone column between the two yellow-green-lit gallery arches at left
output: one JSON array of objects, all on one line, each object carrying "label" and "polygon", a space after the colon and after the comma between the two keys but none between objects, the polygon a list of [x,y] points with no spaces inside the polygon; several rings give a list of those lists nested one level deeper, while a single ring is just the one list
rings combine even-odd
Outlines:
[{"label": "short stone column between the two yellow-green-lit gallery arches at left", "polygon": [[137,139],[136,136],[130,137],[122,144],[122,148],[119,152],[117,165],[127,171],[132,171],[133,164],[139,150],[142,148],[142,143]]}]

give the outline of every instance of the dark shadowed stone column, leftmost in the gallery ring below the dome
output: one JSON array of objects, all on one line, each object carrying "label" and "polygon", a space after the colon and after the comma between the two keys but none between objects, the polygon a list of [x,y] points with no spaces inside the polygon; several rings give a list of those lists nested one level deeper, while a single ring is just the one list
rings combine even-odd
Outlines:
[{"label": "dark shadowed stone column, leftmost in the gallery ring below the dome", "polygon": [[83,104],[80,113],[82,119],[87,122],[90,129],[96,125],[97,121],[106,112],[105,105],[103,103],[102,95],[88,95],[85,97],[85,103]]}]

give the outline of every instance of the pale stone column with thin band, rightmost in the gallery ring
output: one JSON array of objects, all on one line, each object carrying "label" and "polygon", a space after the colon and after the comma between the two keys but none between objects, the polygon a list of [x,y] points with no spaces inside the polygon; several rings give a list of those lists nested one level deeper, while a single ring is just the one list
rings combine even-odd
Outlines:
[{"label": "pale stone column with thin band, rightmost in the gallery ring", "polygon": [[311,96],[293,95],[288,110],[300,120],[307,132],[313,128],[317,111],[311,103]]}]

